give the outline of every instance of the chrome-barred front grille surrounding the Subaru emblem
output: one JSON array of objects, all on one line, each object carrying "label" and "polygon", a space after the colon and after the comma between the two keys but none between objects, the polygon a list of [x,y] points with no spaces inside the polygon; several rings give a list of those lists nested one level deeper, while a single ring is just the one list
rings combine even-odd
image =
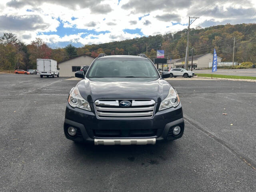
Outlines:
[{"label": "chrome-barred front grille surrounding the Subaru emblem", "polygon": [[155,101],[150,99],[126,99],[132,101],[130,107],[121,107],[124,99],[96,100],[94,102],[98,118],[151,118]]}]

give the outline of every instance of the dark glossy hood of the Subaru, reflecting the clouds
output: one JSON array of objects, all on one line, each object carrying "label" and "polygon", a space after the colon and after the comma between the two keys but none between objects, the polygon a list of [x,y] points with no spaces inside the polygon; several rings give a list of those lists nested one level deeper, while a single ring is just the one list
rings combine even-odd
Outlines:
[{"label": "dark glossy hood of the Subaru, reflecting the clouds", "polygon": [[88,102],[97,99],[152,99],[166,98],[170,84],[166,80],[151,78],[86,78],[77,87]]}]

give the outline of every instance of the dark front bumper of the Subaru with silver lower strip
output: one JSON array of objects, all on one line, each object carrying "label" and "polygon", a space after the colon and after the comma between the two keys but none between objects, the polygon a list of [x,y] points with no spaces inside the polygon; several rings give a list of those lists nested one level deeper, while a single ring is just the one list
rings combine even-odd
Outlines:
[{"label": "dark front bumper of the Subaru with silver lower strip", "polygon": [[[94,106],[91,105],[93,111],[86,111],[79,108],[72,108],[68,103],[65,113],[64,134],[66,138],[76,142],[90,142],[95,145],[115,145],[115,144],[155,144],[160,140],[175,140],[182,137],[184,132],[184,120],[181,104],[176,108],[169,108],[158,111],[160,103],[156,103],[152,118],[144,119],[102,119],[98,118],[94,112]],[[177,136],[172,134],[175,126],[181,127],[181,132]],[[72,137],[67,133],[69,126],[73,126],[77,130],[76,136]],[[144,132],[151,131],[150,135],[136,136],[99,136],[96,132],[111,130],[128,132]]]}]

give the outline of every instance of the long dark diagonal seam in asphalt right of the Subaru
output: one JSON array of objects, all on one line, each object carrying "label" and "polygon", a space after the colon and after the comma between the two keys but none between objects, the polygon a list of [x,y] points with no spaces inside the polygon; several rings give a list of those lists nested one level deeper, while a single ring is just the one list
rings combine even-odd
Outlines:
[{"label": "long dark diagonal seam in asphalt right of the Subaru", "polygon": [[[256,162],[254,160],[252,160],[251,158],[249,158],[248,156],[244,155],[242,152],[240,152],[238,149],[236,149],[234,146],[228,144],[227,142],[225,142],[224,140],[222,140],[221,138],[219,138],[218,136],[216,136],[215,134],[213,134],[212,132],[209,132],[208,130],[202,128],[201,126],[199,126],[196,122],[194,122],[193,120],[191,120],[190,118],[186,117],[186,115],[184,115],[184,120],[187,121],[190,125],[194,126],[195,128],[197,128],[198,130],[202,131],[204,134],[208,135],[210,138],[212,138],[213,140],[215,140],[216,142],[218,142],[219,144],[221,144],[222,146],[224,146],[225,148],[227,148],[230,152],[232,152],[235,156],[237,156],[239,159],[241,159],[244,163],[246,163],[247,165],[249,165],[253,170],[256,170]],[[250,163],[249,163],[250,162]]]}]

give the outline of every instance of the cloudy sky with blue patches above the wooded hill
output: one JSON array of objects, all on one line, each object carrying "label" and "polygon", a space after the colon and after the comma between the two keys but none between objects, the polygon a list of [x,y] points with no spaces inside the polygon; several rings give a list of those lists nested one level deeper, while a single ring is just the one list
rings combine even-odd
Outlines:
[{"label": "cloudy sky with blue patches above the wooded hill", "polygon": [[0,35],[50,47],[99,44],[192,27],[256,22],[256,0],[0,0]]}]

